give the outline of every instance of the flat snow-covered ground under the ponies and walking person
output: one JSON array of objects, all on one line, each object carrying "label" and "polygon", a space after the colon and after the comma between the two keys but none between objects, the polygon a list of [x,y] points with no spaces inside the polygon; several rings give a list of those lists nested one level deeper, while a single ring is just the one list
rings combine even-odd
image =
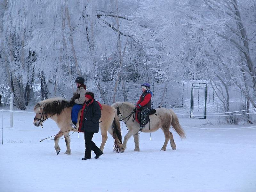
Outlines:
[{"label": "flat snow-covered ground under the ponies and walking person", "polygon": [[[184,191],[184,192],[255,192],[256,126],[214,125],[204,119],[180,116],[187,139],[173,130],[177,150],[170,143],[167,151],[161,130],[140,134],[140,152],[134,152],[133,138],[123,154],[113,152],[108,135],[104,154],[99,159],[82,161],[83,134],[72,134],[71,155],[65,140],[60,140],[56,155],[53,140],[41,139],[57,134],[51,120],[44,128],[33,125],[33,113],[14,113],[9,127],[9,112],[4,112],[4,140],[0,145],[1,192],[80,192],[80,191]],[[2,112],[0,113],[2,126]],[[127,133],[122,125],[123,138]],[[93,141],[100,146],[101,134]],[[95,155],[92,154],[92,157]]]}]

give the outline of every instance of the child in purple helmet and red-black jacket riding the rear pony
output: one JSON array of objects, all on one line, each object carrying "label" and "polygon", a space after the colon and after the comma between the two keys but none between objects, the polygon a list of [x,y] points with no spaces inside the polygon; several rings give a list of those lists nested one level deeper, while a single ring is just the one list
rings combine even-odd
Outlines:
[{"label": "child in purple helmet and red-black jacket riding the rear pony", "polygon": [[147,114],[151,110],[151,97],[153,93],[149,90],[149,83],[141,85],[142,94],[140,100],[136,103],[136,108],[140,110],[140,131],[145,128]]}]

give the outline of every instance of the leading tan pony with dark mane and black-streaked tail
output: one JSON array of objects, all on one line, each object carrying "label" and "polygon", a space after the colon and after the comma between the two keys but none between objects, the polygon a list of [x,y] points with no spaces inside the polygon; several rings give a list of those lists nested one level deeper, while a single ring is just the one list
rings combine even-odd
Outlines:
[{"label": "leading tan pony with dark mane and black-streaked tail", "polygon": [[[54,148],[57,155],[60,153],[59,138],[64,135],[67,150],[65,154],[71,154],[70,149],[70,139],[69,130],[72,129],[71,123],[71,108],[67,107],[67,102],[63,98],[50,98],[37,103],[34,107],[34,112],[36,116],[34,118],[34,125],[39,126],[48,118],[51,118],[56,122],[60,131],[54,137]],[[78,123],[80,119],[81,110],[78,114]],[[109,132],[115,140],[114,150],[116,152],[124,152],[124,147],[122,145],[122,136],[120,129],[120,122],[117,116],[117,111],[115,108],[102,105],[101,118],[100,118],[100,132],[102,136],[102,143],[100,145],[100,150],[103,151],[105,143],[108,139],[107,132]],[[74,131],[74,130],[72,130]]]}]

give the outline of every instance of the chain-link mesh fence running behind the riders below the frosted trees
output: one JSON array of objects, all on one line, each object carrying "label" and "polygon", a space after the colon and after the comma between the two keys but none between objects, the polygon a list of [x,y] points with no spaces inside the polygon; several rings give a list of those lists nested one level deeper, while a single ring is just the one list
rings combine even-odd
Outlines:
[{"label": "chain-link mesh fence running behind the riders below the frosted trees", "polygon": [[[193,84],[193,87],[192,87]],[[240,89],[236,86],[228,86],[228,94],[223,85],[210,84],[209,82],[200,82],[199,88],[198,82],[183,81],[181,83],[172,84],[159,84],[150,83],[150,90],[153,92],[152,108],[172,108],[175,113],[178,114],[195,114],[193,118],[204,118],[204,113],[223,113],[240,111],[245,109],[252,109],[253,106],[247,105],[246,97],[242,94]],[[94,82],[87,82],[87,91],[92,91],[95,95],[95,99],[101,103],[111,105],[113,103],[113,95],[115,84],[113,82],[100,82],[100,90]],[[125,82],[125,92],[127,94],[128,102],[136,103],[141,95],[141,83]],[[204,85],[204,86],[203,86]],[[193,94],[191,90],[193,89]],[[207,91],[205,92],[205,89]],[[70,89],[60,88],[61,96],[69,100],[73,96],[73,92]],[[74,87],[75,91],[76,88]],[[215,91],[214,91],[215,90]],[[104,99],[102,98],[104,97]],[[229,100],[229,108],[227,110],[227,99]],[[192,100],[192,102],[191,102]],[[104,102],[105,101],[105,102]],[[119,83],[116,87],[115,101],[124,101],[124,93],[122,84]],[[193,110],[191,110],[193,109]],[[205,112],[204,112],[205,111]],[[251,111],[252,112],[252,111]],[[237,112],[235,114],[246,113]],[[234,113],[233,113],[234,114]],[[215,116],[217,117],[218,114]],[[206,116],[205,118],[212,118],[214,115]],[[246,119],[246,115],[236,116],[218,116],[218,118],[224,118],[226,121],[230,121],[237,124],[238,121]]]}]

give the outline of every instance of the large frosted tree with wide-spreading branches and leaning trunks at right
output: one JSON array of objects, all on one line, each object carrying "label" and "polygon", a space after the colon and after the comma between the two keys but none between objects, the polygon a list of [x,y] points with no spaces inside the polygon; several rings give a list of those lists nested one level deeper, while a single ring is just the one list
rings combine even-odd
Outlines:
[{"label": "large frosted tree with wide-spreading branches and leaning trunks at right", "polygon": [[128,34],[153,52],[156,79],[218,80],[225,111],[236,85],[255,107],[254,1],[146,0],[129,19]]}]

